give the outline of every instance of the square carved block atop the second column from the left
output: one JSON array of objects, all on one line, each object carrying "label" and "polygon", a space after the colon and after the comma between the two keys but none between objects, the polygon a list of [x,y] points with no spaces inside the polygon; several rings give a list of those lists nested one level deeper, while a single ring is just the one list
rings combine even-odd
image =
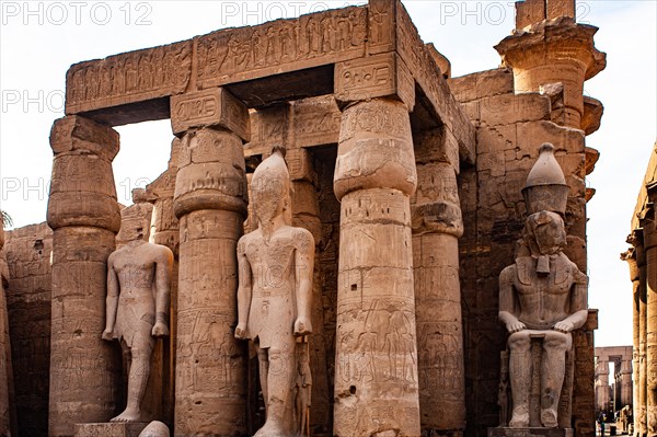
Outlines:
[{"label": "square carved block atop the second column from the left", "polygon": [[171,97],[171,127],[181,136],[195,127],[218,126],[249,141],[249,110],[223,88]]}]

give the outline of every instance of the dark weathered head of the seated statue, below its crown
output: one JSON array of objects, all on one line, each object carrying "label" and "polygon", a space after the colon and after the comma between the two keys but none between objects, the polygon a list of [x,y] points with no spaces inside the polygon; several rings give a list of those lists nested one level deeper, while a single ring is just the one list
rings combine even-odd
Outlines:
[{"label": "dark weathered head of the seated statue, below its crown", "polygon": [[553,255],[566,245],[564,220],[556,212],[534,212],[525,221],[523,239],[532,255]]}]

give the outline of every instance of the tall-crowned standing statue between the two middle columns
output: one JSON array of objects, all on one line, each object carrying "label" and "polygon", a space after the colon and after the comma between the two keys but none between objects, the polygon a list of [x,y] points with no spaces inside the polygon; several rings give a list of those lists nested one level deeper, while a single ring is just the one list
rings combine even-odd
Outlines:
[{"label": "tall-crowned standing statue between the two middle columns", "polygon": [[309,380],[298,370],[299,349],[307,344],[297,338],[312,331],[314,240],[306,229],[289,226],[290,182],[284,157],[285,150],[275,147],[255,170],[251,194],[257,229],[238,243],[235,337],[251,338],[257,348],[267,413],[257,437],[297,436],[307,414],[295,399],[300,377],[307,381],[301,386]]}]

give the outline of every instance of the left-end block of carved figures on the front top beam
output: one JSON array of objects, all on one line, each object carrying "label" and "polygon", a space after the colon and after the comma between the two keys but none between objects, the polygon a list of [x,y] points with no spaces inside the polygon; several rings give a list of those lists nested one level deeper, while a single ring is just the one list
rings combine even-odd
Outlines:
[{"label": "left-end block of carved figures on the front top beam", "polygon": [[191,77],[192,41],[77,64],[67,72],[66,113],[178,94]]}]

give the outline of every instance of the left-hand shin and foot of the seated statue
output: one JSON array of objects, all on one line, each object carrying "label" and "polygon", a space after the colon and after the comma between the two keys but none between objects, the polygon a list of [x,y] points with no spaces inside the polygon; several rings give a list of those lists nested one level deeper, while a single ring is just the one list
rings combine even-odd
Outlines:
[{"label": "left-hand shin and foot of the seated statue", "polygon": [[509,336],[509,378],[514,412],[509,426],[526,428],[529,426],[529,388],[531,387],[531,338],[527,331],[515,332]]}]

